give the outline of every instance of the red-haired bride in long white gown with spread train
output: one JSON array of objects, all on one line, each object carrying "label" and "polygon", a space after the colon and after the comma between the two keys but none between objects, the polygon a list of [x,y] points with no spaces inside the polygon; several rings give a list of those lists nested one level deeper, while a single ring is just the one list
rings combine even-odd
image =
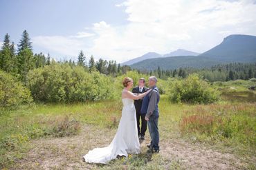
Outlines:
[{"label": "red-haired bride in long white gown with spread train", "polygon": [[143,98],[151,89],[143,94],[131,93],[129,89],[134,85],[134,82],[129,77],[123,79],[122,85],[124,86],[122,90],[122,117],[118,125],[116,136],[109,146],[95,148],[89,151],[84,156],[85,162],[106,164],[110,160],[118,157],[127,157],[128,153],[140,153],[134,100]]}]

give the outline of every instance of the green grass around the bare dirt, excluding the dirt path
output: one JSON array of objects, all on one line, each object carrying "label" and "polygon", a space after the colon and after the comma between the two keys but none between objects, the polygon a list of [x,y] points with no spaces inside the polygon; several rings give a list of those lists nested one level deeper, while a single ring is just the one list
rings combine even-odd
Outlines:
[{"label": "green grass around the bare dirt, excluding the dirt path", "polygon": [[[239,92],[248,92],[243,90]],[[246,93],[244,95],[248,98]],[[183,138],[191,143],[202,142],[215,146],[215,149],[253,159],[255,103],[241,103],[239,100],[233,103],[228,98],[223,99],[214,105],[172,104],[167,96],[162,95],[159,105],[161,142],[168,142],[170,138]],[[99,129],[116,129],[121,109],[121,100],[104,100],[72,105],[36,104],[5,110],[0,115],[0,169],[12,167],[22,159],[33,139],[73,136],[80,132],[84,124]],[[188,119],[187,123],[185,118]],[[145,162],[148,159],[150,161]],[[161,156],[148,158],[145,154],[131,156],[128,160],[114,160],[107,166],[97,168],[126,169],[136,166],[144,169],[182,169],[180,162],[165,160]],[[250,163],[250,167],[255,167],[255,164]]]}]

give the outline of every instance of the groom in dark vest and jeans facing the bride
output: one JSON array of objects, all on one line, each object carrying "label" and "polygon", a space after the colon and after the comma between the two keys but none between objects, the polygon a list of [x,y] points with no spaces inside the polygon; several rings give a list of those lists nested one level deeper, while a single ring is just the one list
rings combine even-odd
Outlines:
[{"label": "groom in dark vest and jeans facing the bride", "polygon": [[141,113],[146,113],[145,120],[147,120],[147,125],[149,127],[149,134],[151,137],[150,145],[148,152],[149,153],[158,153],[159,152],[159,133],[158,133],[158,103],[160,100],[160,95],[158,88],[156,87],[157,78],[156,76],[149,77],[149,88],[152,89],[152,92],[149,92],[143,98],[143,105],[141,108]]}]

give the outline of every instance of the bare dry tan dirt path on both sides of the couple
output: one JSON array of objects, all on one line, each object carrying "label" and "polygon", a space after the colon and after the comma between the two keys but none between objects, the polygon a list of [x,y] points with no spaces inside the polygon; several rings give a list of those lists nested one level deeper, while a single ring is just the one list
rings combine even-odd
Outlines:
[{"label": "bare dry tan dirt path on both sides of the couple", "polygon": [[[65,138],[41,138],[31,142],[26,158],[13,169],[97,169],[95,164],[83,162],[82,156],[94,147],[108,145],[116,130],[98,129],[86,125],[80,135]],[[141,147],[145,151],[149,136]],[[161,142],[160,155],[175,160],[183,169],[240,169],[241,161],[229,153],[212,151],[183,140]],[[169,168],[167,168],[169,169]]]}]

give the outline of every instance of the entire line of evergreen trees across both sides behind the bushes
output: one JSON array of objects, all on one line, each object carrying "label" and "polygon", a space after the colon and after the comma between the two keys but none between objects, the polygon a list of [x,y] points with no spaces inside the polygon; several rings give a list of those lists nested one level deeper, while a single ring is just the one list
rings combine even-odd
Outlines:
[{"label": "entire line of evergreen trees across both sides behind the bushes", "polygon": [[[131,70],[128,65],[120,65],[116,61],[107,61],[99,59],[95,61],[93,56],[89,57],[87,63],[86,56],[81,50],[77,56],[77,61],[55,61],[48,53],[33,54],[33,45],[28,32],[24,30],[21,40],[15,49],[15,43],[10,41],[10,35],[6,34],[3,39],[3,45],[0,50],[0,69],[17,77],[21,82],[27,85],[29,70],[51,65],[51,63],[68,63],[71,67],[81,66],[86,72],[98,71],[101,74],[118,76]],[[248,80],[256,78],[256,63],[230,63],[214,65],[210,68],[196,69],[192,67],[179,68],[174,70],[163,70],[158,67],[157,70],[138,70],[143,74],[155,75],[162,79],[168,77],[186,78],[189,74],[197,73],[208,81],[231,81],[237,79]]]}]

